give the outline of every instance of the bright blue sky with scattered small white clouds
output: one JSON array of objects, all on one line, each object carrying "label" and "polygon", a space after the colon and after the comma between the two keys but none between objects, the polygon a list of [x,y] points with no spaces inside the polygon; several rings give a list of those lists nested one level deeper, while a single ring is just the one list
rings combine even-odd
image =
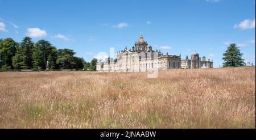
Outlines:
[{"label": "bright blue sky with scattered small white clouds", "polygon": [[0,0],[0,38],[50,41],[85,61],[131,48],[143,33],[153,49],[184,59],[195,50],[222,64],[229,43],[255,64],[255,0]]}]

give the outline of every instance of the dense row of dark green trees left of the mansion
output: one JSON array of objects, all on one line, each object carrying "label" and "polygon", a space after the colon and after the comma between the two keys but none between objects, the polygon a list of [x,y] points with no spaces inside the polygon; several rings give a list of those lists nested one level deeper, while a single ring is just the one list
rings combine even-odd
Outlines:
[{"label": "dense row of dark green trees left of the mansion", "polygon": [[24,37],[21,43],[11,38],[0,39],[0,69],[84,69],[96,70],[97,60],[84,61],[75,56],[72,49],[56,49],[49,41],[39,40],[33,43],[31,37]]}]

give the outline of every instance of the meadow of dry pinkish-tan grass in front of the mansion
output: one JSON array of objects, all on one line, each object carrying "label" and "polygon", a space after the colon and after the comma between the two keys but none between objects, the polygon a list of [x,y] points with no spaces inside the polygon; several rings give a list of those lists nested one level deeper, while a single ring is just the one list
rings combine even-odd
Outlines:
[{"label": "meadow of dry pinkish-tan grass in front of the mansion", "polygon": [[255,67],[0,72],[0,128],[255,128]]}]

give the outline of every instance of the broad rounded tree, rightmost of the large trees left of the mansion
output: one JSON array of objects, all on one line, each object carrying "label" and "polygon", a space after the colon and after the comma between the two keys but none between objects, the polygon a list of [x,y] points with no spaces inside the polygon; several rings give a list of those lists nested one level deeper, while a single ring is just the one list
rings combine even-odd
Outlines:
[{"label": "broad rounded tree, rightmost of the large trees left of the mansion", "polygon": [[57,53],[57,65],[60,69],[72,69],[74,62],[74,55],[76,53],[72,49],[59,49]]}]

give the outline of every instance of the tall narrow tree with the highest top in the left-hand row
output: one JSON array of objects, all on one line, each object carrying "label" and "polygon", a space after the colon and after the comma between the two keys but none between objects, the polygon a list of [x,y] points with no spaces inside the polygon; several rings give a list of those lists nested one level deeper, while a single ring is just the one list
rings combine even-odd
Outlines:
[{"label": "tall narrow tree with the highest top in the left-hand row", "polygon": [[20,48],[22,48],[22,50],[24,52],[23,53],[23,62],[24,62],[24,69],[31,69],[31,67],[33,66],[32,63],[32,50],[34,48],[34,43],[32,41],[32,39],[30,37],[24,37],[24,39],[22,40],[22,43],[20,43]]}]

